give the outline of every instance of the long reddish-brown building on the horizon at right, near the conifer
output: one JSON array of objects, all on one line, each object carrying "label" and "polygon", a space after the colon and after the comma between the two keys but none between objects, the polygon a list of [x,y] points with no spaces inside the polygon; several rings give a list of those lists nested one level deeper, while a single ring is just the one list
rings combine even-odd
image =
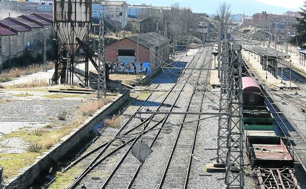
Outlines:
[{"label": "long reddish-brown building on the horizon at right, near the conifer", "polygon": [[253,15],[253,24],[258,27],[291,28],[297,24],[296,17],[288,15],[268,14],[266,11]]}]

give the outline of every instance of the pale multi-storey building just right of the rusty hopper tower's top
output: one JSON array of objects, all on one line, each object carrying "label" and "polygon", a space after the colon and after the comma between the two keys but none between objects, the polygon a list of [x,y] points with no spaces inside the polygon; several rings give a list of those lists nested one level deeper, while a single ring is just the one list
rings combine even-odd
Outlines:
[{"label": "pale multi-storey building just right of the rusty hopper tower's top", "polygon": [[121,23],[122,27],[128,24],[128,4],[125,1],[105,1],[101,2],[102,11],[114,22]]}]

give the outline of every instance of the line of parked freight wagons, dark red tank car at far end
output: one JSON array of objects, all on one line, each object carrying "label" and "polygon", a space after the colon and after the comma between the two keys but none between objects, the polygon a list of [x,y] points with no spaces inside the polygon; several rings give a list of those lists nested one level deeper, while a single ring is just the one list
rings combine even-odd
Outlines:
[{"label": "line of parked freight wagons, dark red tank car at far end", "polygon": [[251,167],[259,189],[301,189],[294,175],[294,153],[287,138],[276,135],[278,125],[260,87],[251,77],[242,78],[243,124]]}]

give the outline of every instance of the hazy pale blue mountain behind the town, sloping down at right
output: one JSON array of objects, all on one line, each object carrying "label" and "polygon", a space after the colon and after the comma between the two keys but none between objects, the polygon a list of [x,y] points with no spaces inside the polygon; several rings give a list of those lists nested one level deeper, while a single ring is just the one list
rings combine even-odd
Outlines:
[{"label": "hazy pale blue mountain behind the town, sloping down at right", "polygon": [[262,11],[267,13],[283,14],[286,11],[298,11],[299,9],[290,9],[280,6],[268,5],[255,0],[127,0],[130,4],[147,3],[153,6],[170,6],[175,2],[179,2],[182,7],[189,7],[192,12],[215,13],[220,2],[228,2],[231,4],[231,13],[253,15]]}]

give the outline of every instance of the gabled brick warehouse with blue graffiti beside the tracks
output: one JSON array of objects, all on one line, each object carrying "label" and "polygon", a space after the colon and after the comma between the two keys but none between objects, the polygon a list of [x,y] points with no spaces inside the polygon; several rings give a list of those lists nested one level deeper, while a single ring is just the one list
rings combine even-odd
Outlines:
[{"label": "gabled brick warehouse with blue graffiti beside the tracks", "polygon": [[[127,65],[128,63],[136,63],[137,52],[140,66],[146,66],[146,71],[149,74],[168,60],[170,39],[155,32],[126,37],[105,47],[105,59],[109,62]],[[121,70],[121,68],[118,69]]]}]

